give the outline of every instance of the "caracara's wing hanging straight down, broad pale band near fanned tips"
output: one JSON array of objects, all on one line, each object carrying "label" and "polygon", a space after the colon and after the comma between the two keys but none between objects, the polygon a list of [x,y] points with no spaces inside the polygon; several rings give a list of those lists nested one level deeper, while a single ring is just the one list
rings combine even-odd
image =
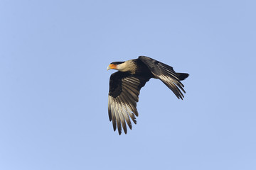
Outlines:
[{"label": "caracara's wing hanging straight down, broad pale band near fanned tips", "polygon": [[118,129],[119,135],[121,135],[122,128],[124,133],[127,133],[127,125],[132,129],[130,118],[136,124],[134,114],[138,116],[136,106],[139,101],[139,90],[149,79],[150,77],[140,77],[127,72],[115,72],[111,75],[108,113],[110,121],[112,120],[114,131]]}]

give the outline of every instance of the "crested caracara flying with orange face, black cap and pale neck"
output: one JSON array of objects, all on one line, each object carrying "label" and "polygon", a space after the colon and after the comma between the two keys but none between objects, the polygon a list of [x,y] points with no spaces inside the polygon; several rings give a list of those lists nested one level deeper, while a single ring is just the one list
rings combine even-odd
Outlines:
[{"label": "crested caracara flying with orange face, black cap and pale neck", "polygon": [[[112,62],[109,69],[117,69],[110,77],[110,92],[108,96],[108,113],[112,120],[114,131],[118,129],[119,135],[127,134],[127,125],[132,130],[132,121],[136,124],[138,116],[137,102],[139,91],[151,78],[160,79],[174,92],[177,98],[183,99],[181,80],[188,77],[187,73],[176,73],[173,67],[146,56],[126,62]],[[126,125],[127,123],[127,125]],[[122,127],[121,127],[122,125]]]}]

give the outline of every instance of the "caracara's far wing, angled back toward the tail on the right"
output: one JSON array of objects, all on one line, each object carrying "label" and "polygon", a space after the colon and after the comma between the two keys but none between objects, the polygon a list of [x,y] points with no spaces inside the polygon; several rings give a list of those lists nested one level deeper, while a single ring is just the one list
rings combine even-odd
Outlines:
[{"label": "caracara's far wing, angled back toward the tail on the right", "polygon": [[186,91],[183,89],[184,86],[180,79],[178,79],[178,74],[174,72],[173,67],[146,56],[139,56],[139,60],[144,62],[144,64],[149,67],[151,73],[154,74],[156,78],[163,81],[163,83],[174,92],[178,99],[183,99],[184,96],[181,91],[183,91],[183,93],[186,93]]}]

